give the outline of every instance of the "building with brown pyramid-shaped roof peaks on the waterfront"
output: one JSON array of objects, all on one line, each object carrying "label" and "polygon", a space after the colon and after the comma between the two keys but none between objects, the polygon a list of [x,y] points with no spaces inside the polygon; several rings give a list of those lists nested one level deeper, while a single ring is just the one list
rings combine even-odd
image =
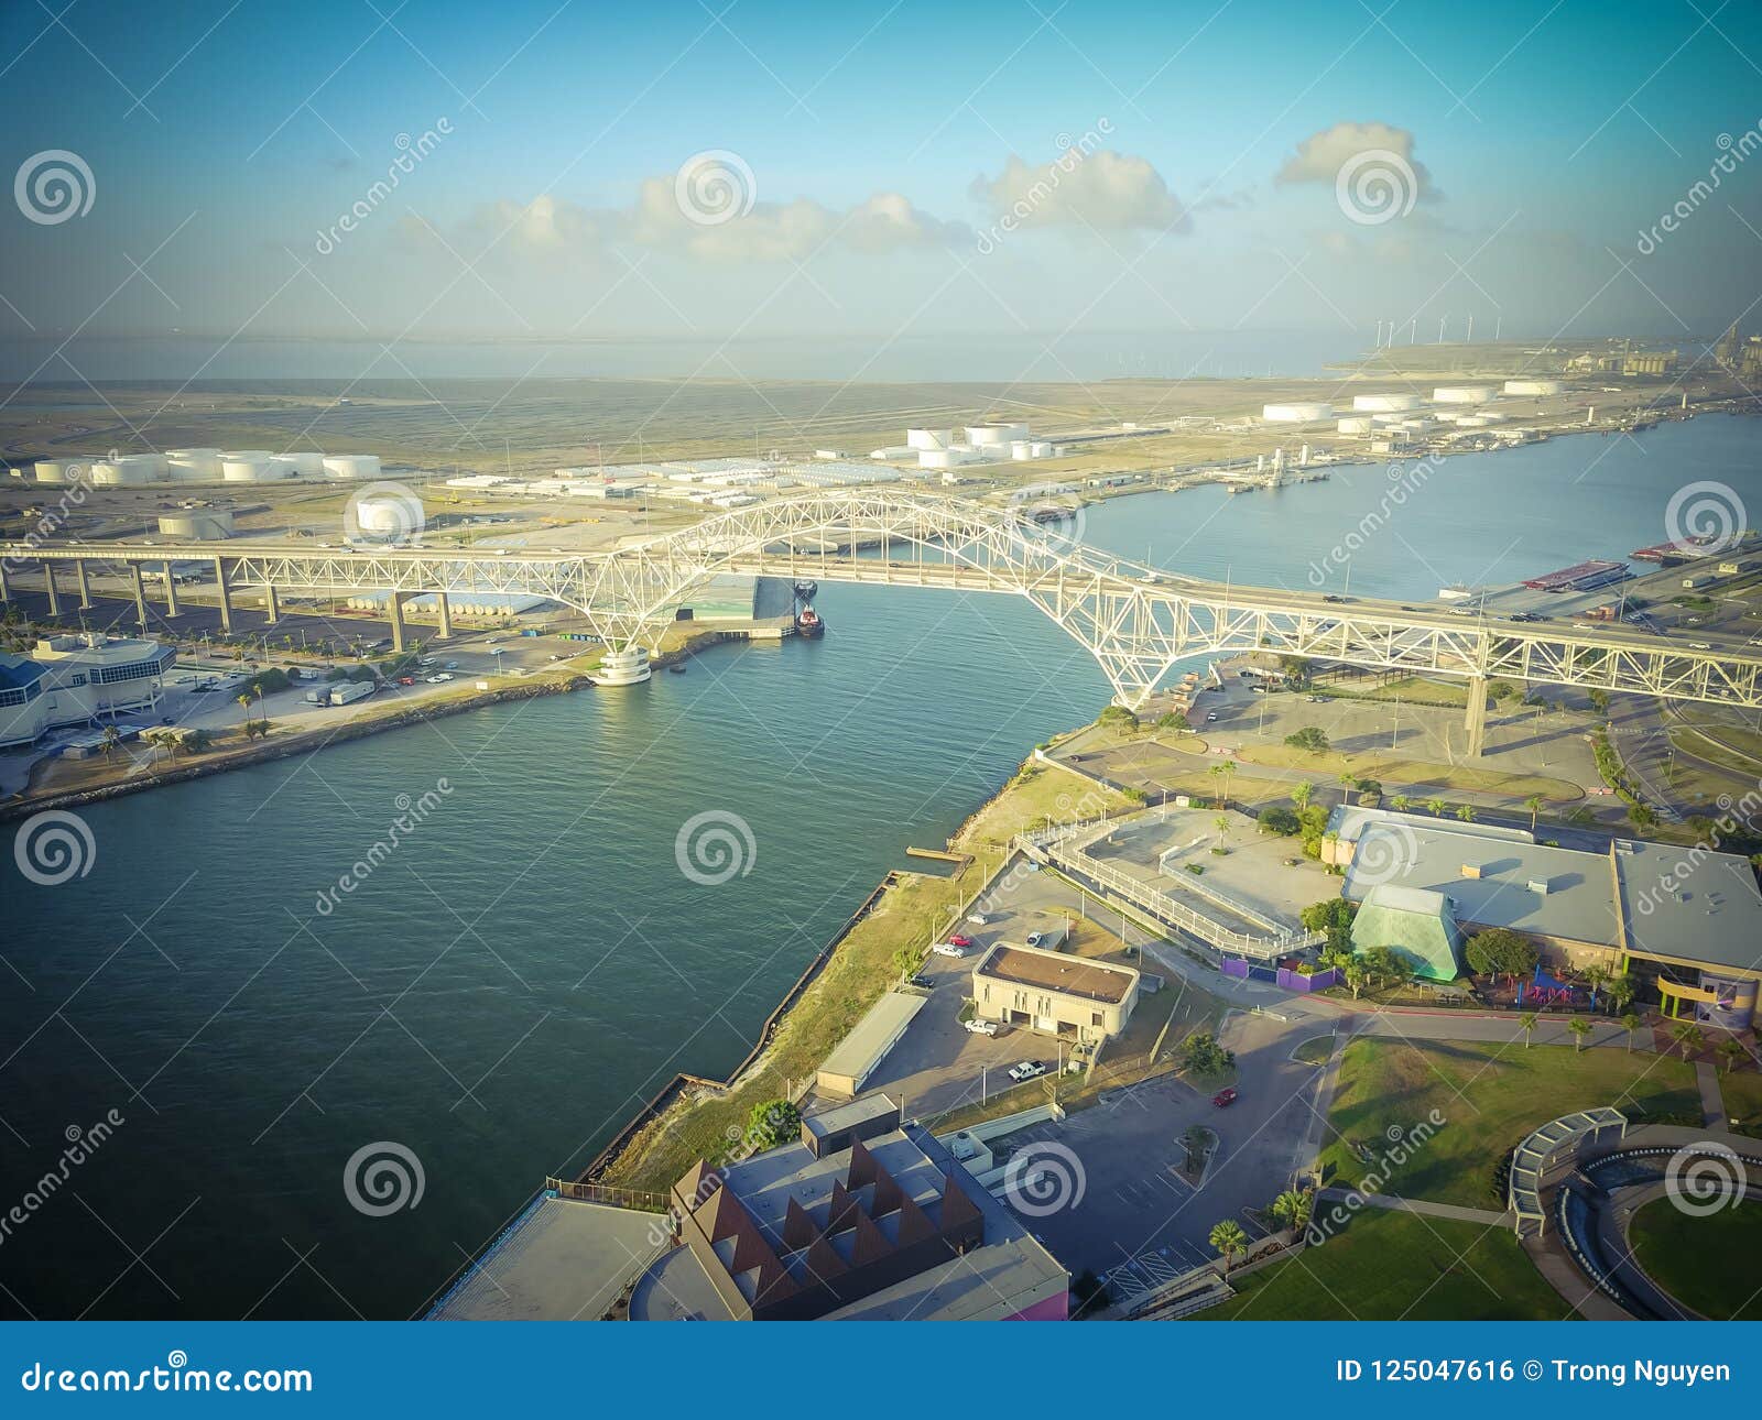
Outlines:
[{"label": "building with brown pyramid-shaped roof peaks on the waterfront", "polygon": [[886,1096],[671,1191],[675,1246],[633,1321],[1062,1321],[1070,1276]]}]

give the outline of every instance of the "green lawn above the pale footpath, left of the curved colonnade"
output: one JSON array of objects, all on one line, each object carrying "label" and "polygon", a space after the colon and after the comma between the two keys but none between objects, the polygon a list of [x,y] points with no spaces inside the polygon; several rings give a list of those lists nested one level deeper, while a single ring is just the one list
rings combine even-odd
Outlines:
[{"label": "green lawn above the pale footpath, left of the curved colonnade", "polygon": [[[1329,1113],[1332,1142],[1322,1152],[1329,1182],[1351,1186],[1383,1173],[1376,1193],[1499,1209],[1494,1165],[1551,1119],[1612,1105],[1635,1124],[1656,1115],[1695,1113],[1693,1068],[1677,1059],[1596,1047],[1496,1045],[1482,1041],[1357,1039],[1341,1061]],[[1436,1110],[1445,1120],[1403,1163],[1383,1163],[1390,1129],[1408,1131]],[[1364,1165],[1346,1147],[1371,1149]]]}]

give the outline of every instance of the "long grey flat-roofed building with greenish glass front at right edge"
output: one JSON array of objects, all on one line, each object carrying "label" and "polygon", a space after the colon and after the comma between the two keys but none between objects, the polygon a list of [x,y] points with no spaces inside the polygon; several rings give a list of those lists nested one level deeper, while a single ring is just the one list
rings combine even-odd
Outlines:
[{"label": "long grey flat-roofed building with greenish glass front at right edge", "polygon": [[1524,828],[1339,807],[1322,862],[1344,869],[1343,893],[1362,904],[1359,916],[1371,911],[1366,941],[1355,925],[1353,943],[1429,943],[1410,953],[1424,957],[1425,974],[1445,962],[1431,928],[1413,936],[1417,914],[1434,914],[1452,939],[1452,928],[1522,932],[1554,967],[1625,971],[1642,985],[1642,999],[1655,988],[1670,1017],[1734,1031],[1755,1017],[1762,893],[1739,854],[1633,839],[1589,853],[1540,844]]}]

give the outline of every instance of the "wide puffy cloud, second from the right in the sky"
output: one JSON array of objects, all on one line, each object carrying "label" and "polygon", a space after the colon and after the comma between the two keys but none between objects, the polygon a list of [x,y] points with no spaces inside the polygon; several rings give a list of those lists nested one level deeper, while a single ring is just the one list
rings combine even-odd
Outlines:
[{"label": "wide puffy cloud, second from the right in the sky", "polygon": [[1186,208],[1145,159],[1112,148],[1070,148],[1031,167],[1011,157],[996,178],[974,178],[973,196],[1015,227],[1188,231]]}]

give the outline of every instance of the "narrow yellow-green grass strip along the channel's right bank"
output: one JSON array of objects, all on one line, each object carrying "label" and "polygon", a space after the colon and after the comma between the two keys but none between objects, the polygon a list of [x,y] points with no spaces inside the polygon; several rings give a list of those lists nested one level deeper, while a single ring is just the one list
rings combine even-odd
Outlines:
[{"label": "narrow yellow-green grass strip along the channel's right bank", "polygon": [[638,1131],[601,1182],[664,1193],[698,1159],[719,1163],[728,1152],[729,1131],[738,1138],[752,1106],[775,1099],[788,1082],[819,1069],[819,1062],[893,983],[893,953],[902,946],[922,948],[948,928],[951,906],[978,891],[1015,833],[1047,817],[1092,817],[1124,807],[1126,798],[1110,789],[1070,770],[1029,761],[955,835],[953,847],[974,854],[974,862],[953,877],[902,876],[839,944],[826,969],[784,1017],[770,1050],[738,1087],[675,1103]]}]

